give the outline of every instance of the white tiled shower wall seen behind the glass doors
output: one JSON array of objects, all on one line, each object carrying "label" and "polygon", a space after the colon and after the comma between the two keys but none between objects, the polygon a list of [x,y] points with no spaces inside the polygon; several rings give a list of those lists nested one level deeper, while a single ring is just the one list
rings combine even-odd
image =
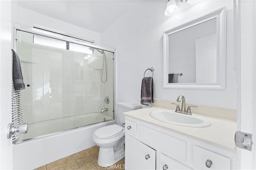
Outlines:
[{"label": "white tiled shower wall seen behind the glass doors", "polygon": [[[26,89],[22,91],[26,123],[100,112],[113,115],[113,53],[105,51],[108,81],[101,82],[103,55],[86,54],[36,45],[30,33],[20,33],[16,51],[20,56]],[[103,77],[105,80],[105,70]],[[104,102],[109,96],[110,103]]]}]

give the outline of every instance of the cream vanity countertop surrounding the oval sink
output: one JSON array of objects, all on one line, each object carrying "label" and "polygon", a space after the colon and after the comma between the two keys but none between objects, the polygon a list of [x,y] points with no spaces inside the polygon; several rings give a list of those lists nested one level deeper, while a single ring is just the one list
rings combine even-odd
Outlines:
[{"label": "cream vanity countertop surrounding the oval sink", "polygon": [[[236,121],[230,121],[226,119],[220,119],[215,117],[209,117],[204,115],[198,115],[208,119],[212,125],[209,127],[184,127],[178,125],[172,125],[158,121],[152,118],[149,113],[156,110],[171,110],[162,107],[146,107],[134,111],[125,112],[124,115],[151,123],[153,125],[163,127],[165,129],[182,133],[183,135],[203,140],[207,143],[220,145],[228,150],[235,151],[236,145],[234,142],[234,135],[236,133]],[[174,110],[171,110],[174,111]],[[192,113],[193,115],[197,115]]]}]

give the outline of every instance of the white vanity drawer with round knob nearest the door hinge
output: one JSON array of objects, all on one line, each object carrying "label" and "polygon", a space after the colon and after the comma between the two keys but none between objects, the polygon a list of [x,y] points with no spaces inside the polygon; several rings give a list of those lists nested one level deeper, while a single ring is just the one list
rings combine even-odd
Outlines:
[{"label": "white vanity drawer with round knob nearest the door hinge", "polygon": [[201,169],[230,170],[230,158],[201,147],[194,146],[193,158],[194,165]]}]

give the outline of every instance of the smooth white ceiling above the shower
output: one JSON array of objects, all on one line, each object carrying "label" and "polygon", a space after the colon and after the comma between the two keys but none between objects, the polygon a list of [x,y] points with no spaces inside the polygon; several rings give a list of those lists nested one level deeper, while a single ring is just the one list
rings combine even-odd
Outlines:
[{"label": "smooth white ceiling above the shower", "polygon": [[140,1],[24,0],[18,6],[101,33]]}]

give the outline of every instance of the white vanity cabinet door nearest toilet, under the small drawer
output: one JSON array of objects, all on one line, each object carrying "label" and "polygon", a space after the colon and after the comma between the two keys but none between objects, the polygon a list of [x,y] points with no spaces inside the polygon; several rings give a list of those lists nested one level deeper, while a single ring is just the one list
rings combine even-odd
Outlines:
[{"label": "white vanity cabinet door nearest toilet, under the small drawer", "polygon": [[125,169],[126,170],[155,170],[156,150],[125,135]]}]

